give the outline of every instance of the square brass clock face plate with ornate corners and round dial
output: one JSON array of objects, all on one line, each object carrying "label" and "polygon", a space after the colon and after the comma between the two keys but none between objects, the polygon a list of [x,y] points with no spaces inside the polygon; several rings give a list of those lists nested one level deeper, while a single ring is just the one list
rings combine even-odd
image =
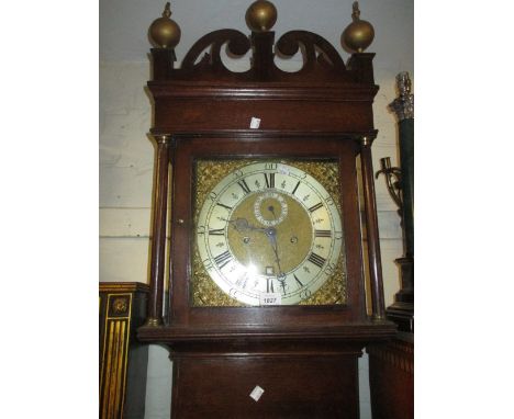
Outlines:
[{"label": "square brass clock face plate with ornate corners and round dial", "polygon": [[338,166],[197,160],[193,306],[346,303]]}]

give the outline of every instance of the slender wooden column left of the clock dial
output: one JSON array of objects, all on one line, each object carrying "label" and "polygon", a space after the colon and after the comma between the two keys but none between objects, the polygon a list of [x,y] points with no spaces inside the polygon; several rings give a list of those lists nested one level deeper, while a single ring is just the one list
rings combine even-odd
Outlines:
[{"label": "slender wooden column left of the clock dial", "polygon": [[168,208],[168,177],[172,138],[154,136],[157,144],[155,193],[152,223],[150,292],[145,326],[163,324],[164,273],[166,267],[166,215]]}]

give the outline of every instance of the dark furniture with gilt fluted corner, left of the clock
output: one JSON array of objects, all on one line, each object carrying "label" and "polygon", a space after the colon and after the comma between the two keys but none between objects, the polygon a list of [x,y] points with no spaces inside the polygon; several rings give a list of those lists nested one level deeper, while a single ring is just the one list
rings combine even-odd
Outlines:
[{"label": "dark furniture with gilt fluted corner, left of the clock", "polygon": [[143,418],[148,349],[135,340],[148,285],[100,283],[100,418]]}]

